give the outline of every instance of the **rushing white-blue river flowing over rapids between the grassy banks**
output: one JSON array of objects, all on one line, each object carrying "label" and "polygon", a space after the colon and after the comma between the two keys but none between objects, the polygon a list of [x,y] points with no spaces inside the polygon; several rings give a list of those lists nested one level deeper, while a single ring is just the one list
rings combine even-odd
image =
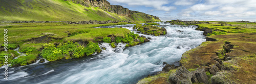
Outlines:
[{"label": "rushing white-blue river flowing over rapids between the grassy banks", "polygon": [[[0,82],[136,83],[148,74],[161,71],[163,62],[173,64],[180,60],[184,52],[196,48],[205,41],[203,32],[195,30],[195,26],[160,24],[159,27],[167,29],[167,34],[163,36],[139,34],[152,38],[150,42],[142,45],[125,48],[125,44],[119,43],[117,48],[112,49],[109,44],[102,43],[100,47],[105,47],[106,50],[92,57],[9,67],[9,80],[0,76]],[[123,27],[135,31],[132,29],[133,25],[106,27]],[[4,68],[0,70],[0,74],[4,74]]]}]

